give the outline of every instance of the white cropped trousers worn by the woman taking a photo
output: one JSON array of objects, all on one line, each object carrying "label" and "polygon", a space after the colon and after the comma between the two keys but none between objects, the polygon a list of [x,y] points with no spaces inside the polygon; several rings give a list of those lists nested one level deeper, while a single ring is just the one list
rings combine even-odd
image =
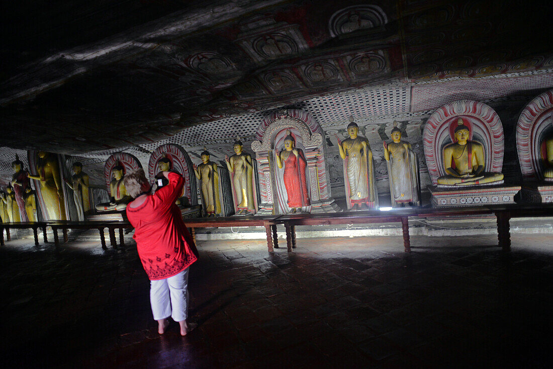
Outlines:
[{"label": "white cropped trousers worn by the woman taking a photo", "polygon": [[155,320],[188,318],[188,269],[173,277],[150,280],[150,303]]}]

